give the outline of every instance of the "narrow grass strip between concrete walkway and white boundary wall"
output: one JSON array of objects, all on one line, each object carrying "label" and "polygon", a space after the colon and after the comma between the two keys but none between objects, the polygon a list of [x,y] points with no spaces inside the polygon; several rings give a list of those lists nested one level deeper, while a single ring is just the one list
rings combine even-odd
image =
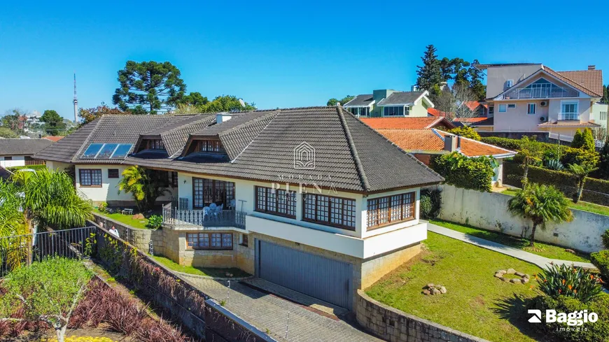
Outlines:
[{"label": "narrow grass strip between concrete walkway and white boundary wall", "polygon": [[542,257],[548,257],[550,259],[561,259],[573,262],[590,262],[589,254],[577,251],[577,254],[572,254],[570,252],[565,252],[564,247],[550,245],[549,243],[535,242],[535,247],[531,248],[528,246],[529,241],[527,238],[519,238],[516,236],[501,234],[496,231],[488,231],[486,229],[479,229],[470,225],[461,225],[459,223],[444,220],[429,220],[429,222],[433,223],[434,225],[461,231],[461,233],[476,236],[478,238],[484,238],[484,240],[501,243],[503,245],[508,245],[510,247],[518,248],[519,250],[524,250],[526,252],[540,255]]}]

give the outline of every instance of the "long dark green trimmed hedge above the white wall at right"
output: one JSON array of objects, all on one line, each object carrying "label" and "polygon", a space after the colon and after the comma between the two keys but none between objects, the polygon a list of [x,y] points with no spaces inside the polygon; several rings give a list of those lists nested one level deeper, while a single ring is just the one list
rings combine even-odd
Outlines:
[{"label": "long dark green trimmed hedge above the white wall at right", "polygon": [[[522,187],[524,166],[514,162],[503,162],[503,183]],[[564,192],[566,197],[573,198],[577,192],[577,178],[565,171],[554,171],[538,166],[528,166],[528,181],[554,185]],[[609,206],[609,180],[586,178],[582,201]]]}]

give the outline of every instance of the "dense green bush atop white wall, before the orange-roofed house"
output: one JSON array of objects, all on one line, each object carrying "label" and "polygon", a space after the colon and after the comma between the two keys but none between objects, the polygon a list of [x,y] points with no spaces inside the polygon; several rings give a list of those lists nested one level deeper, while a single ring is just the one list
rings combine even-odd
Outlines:
[{"label": "dense green bush atop white wall, before the orange-roofed house", "polygon": [[491,157],[468,158],[458,152],[435,157],[431,168],[440,173],[446,183],[477,191],[491,191],[496,161]]}]

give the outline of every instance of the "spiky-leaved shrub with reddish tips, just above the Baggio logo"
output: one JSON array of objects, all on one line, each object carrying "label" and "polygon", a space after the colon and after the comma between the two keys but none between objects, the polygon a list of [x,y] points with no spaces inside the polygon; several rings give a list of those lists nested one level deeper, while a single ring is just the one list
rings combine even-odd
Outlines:
[{"label": "spiky-leaved shrub with reddish tips, just above the Baggio logo", "polygon": [[586,302],[603,292],[598,277],[587,269],[566,264],[552,265],[536,278],[539,290],[552,298],[564,296]]}]

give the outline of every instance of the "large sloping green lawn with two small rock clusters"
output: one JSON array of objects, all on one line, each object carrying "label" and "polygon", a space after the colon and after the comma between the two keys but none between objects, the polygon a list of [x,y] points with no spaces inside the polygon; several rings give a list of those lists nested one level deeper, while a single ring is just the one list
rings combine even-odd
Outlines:
[{"label": "large sloping green lawn with two small rock clusters", "polygon": [[[526,322],[522,300],[534,297],[534,278],[526,284],[504,283],[493,274],[513,268],[533,276],[537,266],[447,236],[428,233],[428,250],[372,285],[366,293],[406,313],[490,341],[544,341]],[[448,292],[421,293],[427,283]],[[533,286],[533,288],[531,288]]]}]

